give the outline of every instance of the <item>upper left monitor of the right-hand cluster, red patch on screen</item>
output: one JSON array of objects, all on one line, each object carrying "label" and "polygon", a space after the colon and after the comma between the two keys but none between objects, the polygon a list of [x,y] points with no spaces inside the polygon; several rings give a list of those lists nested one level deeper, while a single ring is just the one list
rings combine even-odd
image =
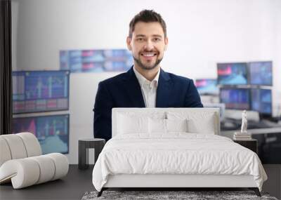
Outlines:
[{"label": "upper left monitor of the right-hand cluster, red patch on screen", "polygon": [[219,85],[248,84],[247,62],[218,63],[217,74]]}]

